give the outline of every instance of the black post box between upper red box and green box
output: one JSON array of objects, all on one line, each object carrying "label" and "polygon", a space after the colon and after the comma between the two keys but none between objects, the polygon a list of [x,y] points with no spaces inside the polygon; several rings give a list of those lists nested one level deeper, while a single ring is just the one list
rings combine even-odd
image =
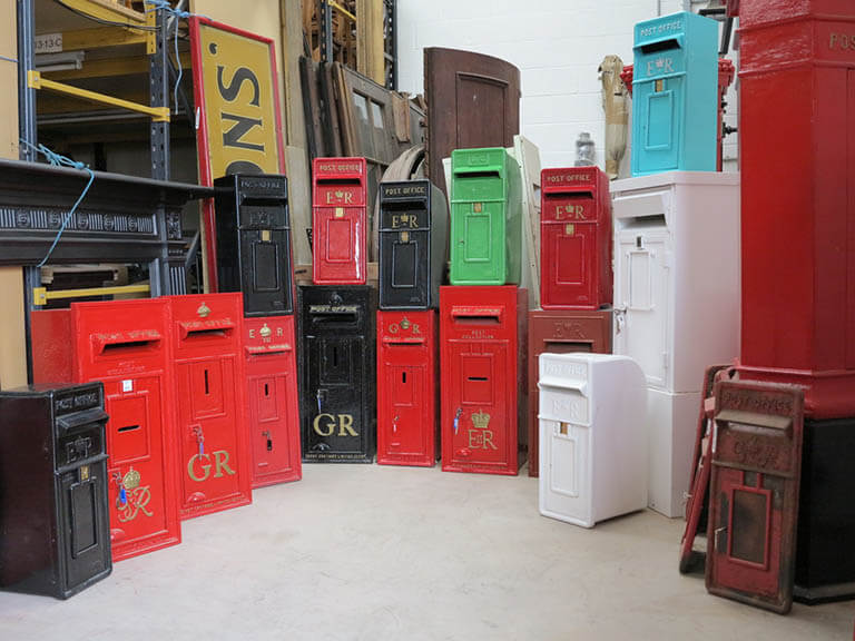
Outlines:
[{"label": "black post box between upper red box and green box", "polygon": [[380,185],[380,308],[436,309],[449,214],[430,180]]}]

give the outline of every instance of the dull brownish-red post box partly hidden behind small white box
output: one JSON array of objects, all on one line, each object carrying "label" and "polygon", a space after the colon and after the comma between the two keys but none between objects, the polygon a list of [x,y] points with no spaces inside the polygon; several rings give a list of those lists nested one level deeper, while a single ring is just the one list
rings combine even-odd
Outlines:
[{"label": "dull brownish-red post box partly hidden behind small white box", "polygon": [[611,354],[611,309],[529,312],[529,476],[539,472],[538,358],[543,352]]}]

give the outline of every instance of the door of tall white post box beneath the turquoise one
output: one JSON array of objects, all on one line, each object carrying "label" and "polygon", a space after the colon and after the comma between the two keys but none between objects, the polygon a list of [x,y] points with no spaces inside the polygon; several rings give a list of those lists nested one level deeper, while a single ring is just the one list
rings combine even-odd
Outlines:
[{"label": "door of tall white post box beneath the turquoise one", "polygon": [[672,332],[669,235],[664,230],[625,230],[619,252],[615,352],[637,361],[649,385],[665,387]]}]

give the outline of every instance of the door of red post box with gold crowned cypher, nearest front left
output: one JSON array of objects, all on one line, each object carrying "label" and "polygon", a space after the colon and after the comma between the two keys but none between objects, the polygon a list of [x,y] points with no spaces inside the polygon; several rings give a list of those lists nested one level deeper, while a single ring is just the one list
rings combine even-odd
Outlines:
[{"label": "door of red post box with gold crowned cypher, nearest front left", "polygon": [[166,484],[174,463],[165,445],[163,384],[158,375],[104,381],[114,560],[127,555],[122,548],[170,530]]}]

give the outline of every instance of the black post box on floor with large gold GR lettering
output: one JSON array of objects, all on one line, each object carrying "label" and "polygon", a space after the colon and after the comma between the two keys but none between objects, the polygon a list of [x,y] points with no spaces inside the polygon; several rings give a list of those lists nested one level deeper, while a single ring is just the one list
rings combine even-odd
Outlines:
[{"label": "black post box on floor with large gold GR lettering", "polygon": [[376,289],[299,288],[304,462],[371,463],[376,427]]}]

